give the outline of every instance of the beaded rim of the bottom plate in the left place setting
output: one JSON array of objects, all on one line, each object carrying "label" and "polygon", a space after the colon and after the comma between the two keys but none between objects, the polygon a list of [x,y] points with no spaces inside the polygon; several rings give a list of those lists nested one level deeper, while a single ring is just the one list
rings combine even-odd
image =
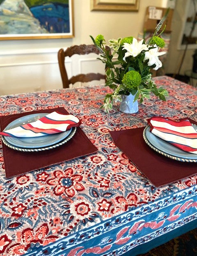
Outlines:
[{"label": "beaded rim of the bottom plate in the left place setting", "polygon": [[71,128],[71,133],[69,134],[68,137],[66,137],[65,139],[63,139],[62,141],[60,141],[59,143],[57,144],[53,144],[49,147],[43,147],[43,148],[34,148],[34,149],[26,149],[26,148],[21,148],[21,147],[16,147],[16,146],[13,146],[11,144],[9,144],[7,141],[5,141],[4,137],[2,136],[2,142],[9,148],[11,149],[14,149],[14,150],[17,150],[17,151],[23,151],[23,152],[38,152],[38,151],[45,151],[45,150],[48,150],[48,149],[55,149],[56,147],[59,147],[63,144],[65,144],[66,142],[68,142],[76,133],[76,130],[77,128],[76,127],[72,127]]}]

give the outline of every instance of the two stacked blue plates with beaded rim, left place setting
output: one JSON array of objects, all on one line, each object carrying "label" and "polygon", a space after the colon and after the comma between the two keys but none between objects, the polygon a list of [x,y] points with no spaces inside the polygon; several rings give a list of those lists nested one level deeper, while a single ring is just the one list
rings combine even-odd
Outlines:
[{"label": "two stacked blue plates with beaded rim, left place setting", "polygon": [[[4,130],[12,129],[17,126],[21,126],[25,123],[32,123],[48,113],[31,114],[22,116],[11,123],[9,123]],[[56,133],[53,135],[45,135],[41,137],[9,137],[2,136],[2,142],[11,149],[25,152],[44,151],[48,149],[54,149],[69,141],[76,133],[76,127],[71,128],[62,133]]]}]

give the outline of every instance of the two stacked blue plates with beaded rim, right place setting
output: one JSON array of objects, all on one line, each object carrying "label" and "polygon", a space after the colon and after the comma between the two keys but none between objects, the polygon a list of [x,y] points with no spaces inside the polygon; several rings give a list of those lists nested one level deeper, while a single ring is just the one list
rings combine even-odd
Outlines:
[{"label": "two stacked blue plates with beaded rim, right place setting", "polygon": [[[192,125],[197,131],[197,126]],[[163,156],[172,158],[177,161],[182,162],[196,162],[197,155],[183,151],[177,147],[174,147],[172,144],[166,142],[165,140],[160,139],[156,135],[150,132],[150,127],[147,126],[143,132],[144,141],[159,154]]]}]

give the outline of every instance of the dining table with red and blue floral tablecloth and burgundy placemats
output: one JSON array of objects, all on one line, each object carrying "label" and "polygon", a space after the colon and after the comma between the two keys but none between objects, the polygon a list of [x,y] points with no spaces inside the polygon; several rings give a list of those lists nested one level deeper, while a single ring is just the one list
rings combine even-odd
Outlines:
[{"label": "dining table with red and blue floral tablecloth and burgundy placemats", "polygon": [[197,125],[197,88],[153,79],[166,101],[151,95],[135,114],[120,102],[104,112],[105,84],[0,96],[1,131],[56,110],[80,120],[55,147],[21,150],[1,136],[1,256],[135,256],[197,228],[197,155],[144,137],[153,116]]}]

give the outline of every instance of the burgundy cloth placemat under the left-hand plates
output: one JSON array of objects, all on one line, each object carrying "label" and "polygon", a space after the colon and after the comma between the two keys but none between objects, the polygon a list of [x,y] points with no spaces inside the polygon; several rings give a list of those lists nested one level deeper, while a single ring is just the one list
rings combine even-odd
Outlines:
[{"label": "burgundy cloth placemat under the left-hand plates", "polygon": [[[55,109],[43,109],[39,111],[0,116],[1,130],[5,129],[11,121],[14,121],[21,116],[34,113],[51,113],[53,111],[69,114],[64,107],[58,107]],[[3,143],[2,148],[6,178],[69,161],[73,158],[89,155],[98,151],[80,127],[77,127],[76,133],[71,140],[55,149],[39,152],[21,152],[10,149]]]}]

